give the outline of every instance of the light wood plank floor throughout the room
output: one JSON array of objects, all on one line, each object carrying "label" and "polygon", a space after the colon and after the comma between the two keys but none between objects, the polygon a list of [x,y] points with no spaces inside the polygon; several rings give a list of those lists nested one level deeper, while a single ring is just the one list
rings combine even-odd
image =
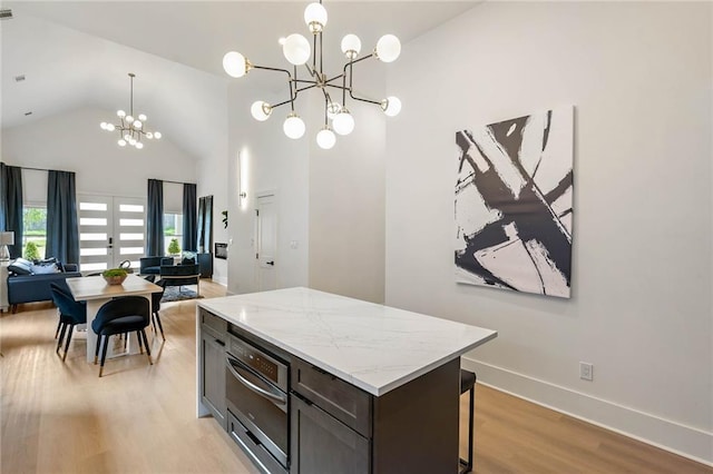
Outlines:
[{"label": "light wood plank floor throughout the room", "polygon": [[[201,294],[225,289],[202,282]],[[195,417],[195,300],[163,304],[160,314],[166,342],[149,333],[154,365],[140,355],[109,361],[101,378],[85,362],[84,339],[72,342],[66,363],[57,357],[50,304],[2,314],[0,473],[257,474],[217,423]],[[466,395],[461,408],[465,440]],[[475,472],[713,468],[478,385]]]}]

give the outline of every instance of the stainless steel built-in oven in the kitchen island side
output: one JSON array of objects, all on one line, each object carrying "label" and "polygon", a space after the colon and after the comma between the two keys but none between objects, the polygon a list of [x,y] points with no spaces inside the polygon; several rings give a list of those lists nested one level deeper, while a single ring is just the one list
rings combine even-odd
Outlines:
[{"label": "stainless steel built-in oven in the kitchen island side", "polygon": [[231,434],[265,471],[286,472],[287,364],[244,339],[229,340],[225,388]]}]

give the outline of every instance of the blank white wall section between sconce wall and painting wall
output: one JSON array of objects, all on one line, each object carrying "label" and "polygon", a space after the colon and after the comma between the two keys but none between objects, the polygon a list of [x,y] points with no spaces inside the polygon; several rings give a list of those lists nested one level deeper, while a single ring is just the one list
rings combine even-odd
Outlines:
[{"label": "blank white wall section between sconce wall and painting wall", "polygon": [[[379,61],[355,66],[354,82],[360,93],[373,100],[387,97],[389,66]],[[319,125],[324,121],[323,101],[312,98],[314,110],[306,134],[310,287],[383,303],[385,116],[372,103],[350,99],[346,103],[355,121],[354,131],[338,135],[334,148],[323,150],[315,141]]]}]

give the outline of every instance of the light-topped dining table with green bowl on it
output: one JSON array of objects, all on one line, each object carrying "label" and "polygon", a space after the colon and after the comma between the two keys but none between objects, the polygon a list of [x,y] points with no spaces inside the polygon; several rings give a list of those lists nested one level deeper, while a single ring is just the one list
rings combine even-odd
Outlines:
[{"label": "light-topped dining table with green bowl on it", "polygon": [[[148,299],[152,304],[152,294],[160,293],[163,288],[158,285],[134,274],[127,275],[120,285],[109,285],[102,276],[87,276],[67,278],[67,286],[71,296],[77,302],[87,302],[87,362],[94,363],[97,335],[91,329],[91,322],[97,317],[97,313],[105,303],[121,296],[138,295]],[[149,306],[150,307],[150,306]],[[150,310],[149,310],[150,314]],[[129,335],[127,350],[114,350],[109,346],[108,357],[116,357],[125,354],[138,353],[138,339],[136,334]]]}]

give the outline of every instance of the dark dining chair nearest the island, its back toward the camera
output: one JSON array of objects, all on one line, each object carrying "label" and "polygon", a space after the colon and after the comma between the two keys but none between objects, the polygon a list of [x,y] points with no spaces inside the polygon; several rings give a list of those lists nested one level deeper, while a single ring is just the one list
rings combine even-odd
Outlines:
[{"label": "dark dining chair nearest the island, its back toward the camera", "polygon": [[91,323],[91,329],[97,334],[97,345],[95,348],[94,363],[99,357],[99,347],[101,347],[101,365],[99,367],[99,377],[104,373],[104,363],[107,358],[107,347],[109,345],[109,336],[115,334],[136,333],[138,339],[138,348],[143,354],[141,342],[146,346],[148,363],[154,365],[152,361],[152,350],[146,338],[146,326],[149,325],[150,309],[148,299],[143,296],[123,296],[105,303],[97,316]]}]

